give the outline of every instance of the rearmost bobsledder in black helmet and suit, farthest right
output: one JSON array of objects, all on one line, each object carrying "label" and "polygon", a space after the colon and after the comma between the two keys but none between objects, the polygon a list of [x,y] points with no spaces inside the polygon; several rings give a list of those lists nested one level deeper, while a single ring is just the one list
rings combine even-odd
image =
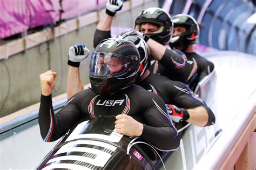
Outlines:
[{"label": "rearmost bobsledder in black helmet and suit, farthest right", "polygon": [[[176,15],[172,19],[174,29],[173,37],[169,43],[170,47],[183,51],[188,59],[188,65],[194,62],[197,63],[197,72],[188,81],[191,89],[194,90],[198,82],[213,71],[214,65],[194,50],[194,44],[198,43],[200,35],[196,19],[186,14]],[[186,74],[189,74],[189,72]]]}]

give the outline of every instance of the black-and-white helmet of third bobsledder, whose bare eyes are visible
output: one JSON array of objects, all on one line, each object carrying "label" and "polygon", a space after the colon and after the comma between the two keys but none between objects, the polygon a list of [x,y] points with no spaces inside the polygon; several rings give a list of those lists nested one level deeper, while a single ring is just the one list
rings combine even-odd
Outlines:
[{"label": "black-and-white helmet of third bobsledder, whose bare eyes are visible", "polygon": [[159,26],[158,31],[147,34],[160,44],[166,44],[172,37],[173,23],[168,12],[160,8],[147,8],[139,13],[135,21],[135,30],[140,31],[142,23],[152,23]]}]

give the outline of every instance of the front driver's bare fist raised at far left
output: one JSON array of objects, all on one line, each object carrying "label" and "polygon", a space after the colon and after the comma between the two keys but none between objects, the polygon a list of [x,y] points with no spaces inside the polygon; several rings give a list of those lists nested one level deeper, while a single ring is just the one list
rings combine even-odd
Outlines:
[{"label": "front driver's bare fist raised at far left", "polygon": [[41,91],[44,96],[49,96],[56,84],[57,73],[51,70],[40,74]]}]

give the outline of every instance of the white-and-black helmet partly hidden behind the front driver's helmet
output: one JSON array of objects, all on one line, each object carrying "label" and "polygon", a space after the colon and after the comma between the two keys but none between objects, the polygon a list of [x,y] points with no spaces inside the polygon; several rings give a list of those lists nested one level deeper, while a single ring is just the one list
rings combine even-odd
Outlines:
[{"label": "white-and-black helmet partly hidden behind the front driver's helmet", "polygon": [[147,46],[147,43],[143,38],[137,35],[129,35],[129,32],[132,34],[133,31],[123,32],[118,35],[117,38],[129,40],[136,45],[140,55],[139,77],[142,77],[142,75],[149,67],[150,48]]}]

